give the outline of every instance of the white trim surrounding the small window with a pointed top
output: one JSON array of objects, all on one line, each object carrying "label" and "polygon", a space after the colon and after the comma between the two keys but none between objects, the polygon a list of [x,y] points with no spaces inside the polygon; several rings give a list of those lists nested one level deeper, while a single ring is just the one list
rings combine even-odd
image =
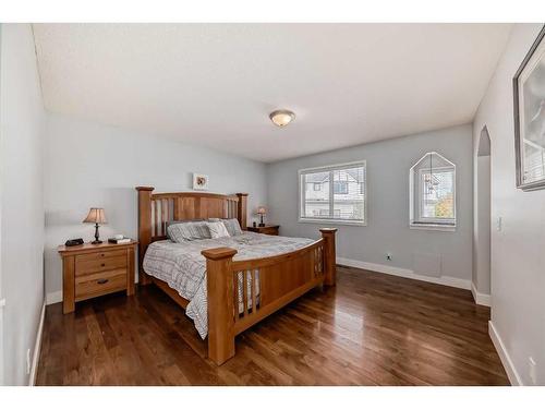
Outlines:
[{"label": "white trim surrounding the small window with a pointed top", "polygon": [[[415,215],[416,215],[416,212],[414,209],[414,202],[415,202],[415,199],[414,196],[416,195],[419,197],[417,200],[417,205],[419,207],[422,206],[422,201],[421,201],[421,193],[422,193],[422,185],[421,185],[421,175],[422,175],[422,171],[423,170],[426,170],[426,169],[419,169],[417,172],[419,172],[419,187],[417,187],[417,190],[415,191],[414,189],[414,181],[413,181],[413,173],[414,173],[414,170],[412,169],[416,164],[420,164],[420,161],[425,158],[427,155],[437,155],[439,156],[441,159],[444,159],[445,161],[449,163],[451,165],[451,167],[453,168],[452,170],[452,176],[455,178],[455,185],[453,185],[453,191],[452,191],[452,202],[455,204],[455,208],[453,208],[453,213],[455,213],[455,217],[452,219],[441,219],[441,218],[429,218],[429,217],[420,217],[419,219],[415,220]],[[409,214],[411,216],[411,219],[409,220],[409,228],[410,229],[413,229],[413,230],[433,230],[433,231],[456,231],[456,228],[457,228],[457,212],[456,212],[456,208],[457,208],[457,194],[456,194],[456,191],[457,191],[457,178],[456,178],[456,165],[452,164],[450,160],[448,160],[445,156],[443,156],[441,154],[438,154],[437,152],[427,152],[424,156],[422,156],[422,158],[420,158],[415,164],[414,164],[413,167],[411,167],[411,171],[409,172],[409,199],[410,199],[410,203],[409,203]],[[447,167],[447,166],[443,166],[443,167],[435,167],[434,169],[437,169],[438,171],[440,171],[441,169],[449,169],[450,167]],[[419,216],[422,214],[422,209],[419,208],[417,210],[417,214]]]}]

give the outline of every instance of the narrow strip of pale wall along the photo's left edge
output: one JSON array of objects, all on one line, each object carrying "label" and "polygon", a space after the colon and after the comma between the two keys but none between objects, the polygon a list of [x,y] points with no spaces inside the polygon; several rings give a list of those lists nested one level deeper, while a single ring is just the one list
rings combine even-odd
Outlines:
[{"label": "narrow strip of pale wall along the photo's left edge", "polygon": [[28,383],[44,303],[44,107],[28,24],[1,25],[0,275],[3,383]]}]

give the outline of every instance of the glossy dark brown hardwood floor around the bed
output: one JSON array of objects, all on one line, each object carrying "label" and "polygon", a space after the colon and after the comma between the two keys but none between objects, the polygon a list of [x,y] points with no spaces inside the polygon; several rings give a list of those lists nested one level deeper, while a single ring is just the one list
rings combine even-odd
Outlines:
[{"label": "glossy dark brown hardwood floor around the bed", "polygon": [[38,385],[508,385],[470,291],[339,267],[237,338],[222,366],[154,286],[63,315],[49,305]]}]

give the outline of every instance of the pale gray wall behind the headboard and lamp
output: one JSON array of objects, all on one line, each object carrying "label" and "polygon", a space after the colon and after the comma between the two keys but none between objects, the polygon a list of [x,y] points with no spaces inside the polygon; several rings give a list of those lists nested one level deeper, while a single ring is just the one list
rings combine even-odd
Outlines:
[{"label": "pale gray wall behind the headboard and lamp", "polygon": [[61,297],[57,246],[70,238],[93,238],[93,226],[82,224],[89,207],[105,208],[102,238],[117,232],[137,237],[136,185],[187,191],[192,172],[199,172],[210,177],[210,192],[247,192],[250,219],[266,203],[265,165],[250,159],[57,115],[48,115],[46,141],[48,302]]}]

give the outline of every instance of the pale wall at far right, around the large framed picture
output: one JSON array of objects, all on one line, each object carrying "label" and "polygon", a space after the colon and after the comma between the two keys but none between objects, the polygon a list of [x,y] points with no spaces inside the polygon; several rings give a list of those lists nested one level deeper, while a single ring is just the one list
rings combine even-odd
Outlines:
[{"label": "pale wall at far right, around the large framed picture", "polygon": [[[512,77],[541,27],[513,27],[477,110],[473,134],[475,153],[485,125],[492,142],[493,327],[513,364],[511,378],[532,384],[532,357],[537,364],[536,383],[545,385],[545,190],[523,192],[516,188],[512,97]],[[502,218],[500,231],[496,228],[498,217]]]}]

